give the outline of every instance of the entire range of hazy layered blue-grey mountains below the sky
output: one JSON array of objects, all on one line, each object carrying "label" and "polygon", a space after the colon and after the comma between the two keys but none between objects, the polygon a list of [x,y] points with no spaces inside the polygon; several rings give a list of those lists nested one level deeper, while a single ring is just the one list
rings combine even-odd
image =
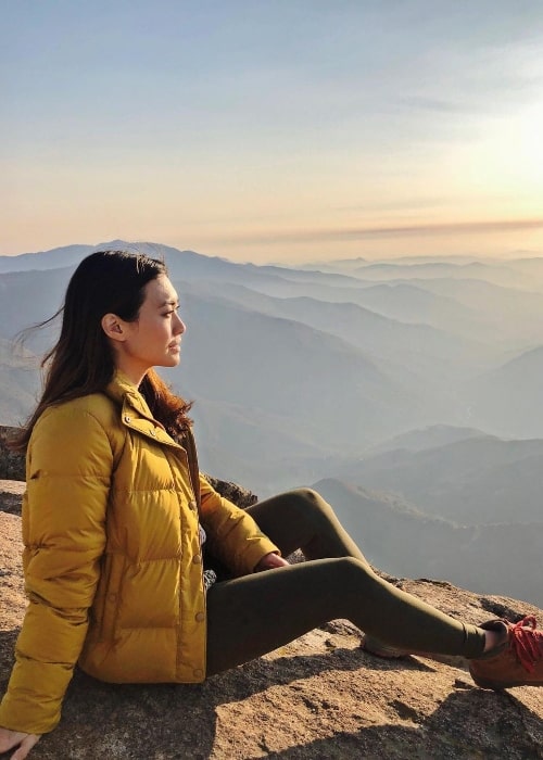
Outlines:
[{"label": "entire range of hazy layered blue-grey mountains below the sky", "polygon": [[103,248],[168,265],[188,330],[165,376],[195,402],[203,469],[261,496],[315,483],[383,569],[522,598],[529,573],[508,584],[501,562],[543,555],[543,258],[256,266],[122,240],[0,256],[0,423],[29,414],[58,320],[15,338]]}]

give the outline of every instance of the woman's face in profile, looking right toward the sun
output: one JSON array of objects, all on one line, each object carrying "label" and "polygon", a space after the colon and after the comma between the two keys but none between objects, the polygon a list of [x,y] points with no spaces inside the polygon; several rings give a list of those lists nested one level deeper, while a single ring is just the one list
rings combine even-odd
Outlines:
[{"label": "woman's face in profile, looking right toward the sun", "polygon": [[122,339],[115,341],[116,366],[139,384],[151,367],[175,367],[180,359],[181,335],[186,330],[177,309],[179,299],[165,275],[144,287],[138,318],[121,321]]}]

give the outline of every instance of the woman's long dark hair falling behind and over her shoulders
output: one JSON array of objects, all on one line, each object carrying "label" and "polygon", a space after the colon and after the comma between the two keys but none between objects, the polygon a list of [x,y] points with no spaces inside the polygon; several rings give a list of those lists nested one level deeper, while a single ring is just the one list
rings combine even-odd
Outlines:
[{"label": "woman's long dark hair falling behind and over her shoulders", "polygon": [[[167,275],[164,262],[141,253],[97,251],[79,264],[70,280],[64,305],[37,328],[62,314],[59,340],[41,366],[45,388],[36,410],[11,445],[24,451],[40,415],[49,406],[89,393],[103,391],[113,379],[113,350],[102,329],[102,317],[112,313],[135,321],[144,300],[144,287],[160,275]],[[34,328],[33,328],[34,329]],[[175,436],[190,426],[190,404],[176,396],[151,369],[140,389],[154,417]]]}]

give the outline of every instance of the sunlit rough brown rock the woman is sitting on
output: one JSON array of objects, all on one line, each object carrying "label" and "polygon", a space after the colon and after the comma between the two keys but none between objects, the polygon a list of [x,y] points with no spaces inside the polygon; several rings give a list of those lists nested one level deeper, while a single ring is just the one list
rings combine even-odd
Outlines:
[{"label": "sunlit rough brown rock the woman is sitting on", "polygon": [[[0,483],[0,692],[25,598],[24,483]],[[11,505],[11,506],[10,506]],[[393,580],[444,611],[480,622],[543,611],[430,580]],[[47,635],[47,632],[45,632]],[[543,758],[543,689],[473,686],[460,659],[379,660],[334,621],[200,685],[109,685],[76,672],[61,725],[35,760],[405,760]]]}]

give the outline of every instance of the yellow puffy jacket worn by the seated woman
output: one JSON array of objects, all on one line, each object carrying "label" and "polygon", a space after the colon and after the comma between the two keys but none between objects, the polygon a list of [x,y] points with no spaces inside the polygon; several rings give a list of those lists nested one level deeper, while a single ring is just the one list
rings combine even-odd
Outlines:
[{"label": "yellow puffy jacket worn by the seated woman", "polygon": [[1,726],[51,731],[77,661],[103,681],[203,681],[199,516],[235,574],[278,549],[198,474],[191,448],[121,373],[105,393],[41,415],[23,501],[29,605]]}]

